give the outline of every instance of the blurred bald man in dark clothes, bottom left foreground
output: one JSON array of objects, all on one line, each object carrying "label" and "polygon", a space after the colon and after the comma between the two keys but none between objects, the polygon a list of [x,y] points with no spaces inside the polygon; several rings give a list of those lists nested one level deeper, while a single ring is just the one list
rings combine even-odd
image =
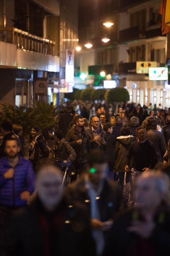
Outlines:
[{"label": "blurred bald man in dark clothes, bottom left foreground", "polygon": [[11,225],[9,255],[95,256],[88,214],[80,204],[67,201],[62,180],[59,168],[40,168],[37,198]]}]

